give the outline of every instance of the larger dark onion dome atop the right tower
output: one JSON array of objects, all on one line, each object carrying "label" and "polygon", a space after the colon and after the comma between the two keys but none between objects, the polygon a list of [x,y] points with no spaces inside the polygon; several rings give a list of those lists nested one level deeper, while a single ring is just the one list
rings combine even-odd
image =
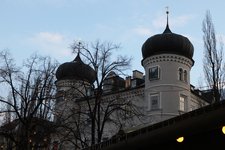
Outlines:
[{"label": "larger dark onion dome atop the right tower", "polygon": [[192,60],[194,47],[188,38],[172,33],[167,24],[162,34],[148,38],[142,45],[143,60],[158,54],[177,54]]}]

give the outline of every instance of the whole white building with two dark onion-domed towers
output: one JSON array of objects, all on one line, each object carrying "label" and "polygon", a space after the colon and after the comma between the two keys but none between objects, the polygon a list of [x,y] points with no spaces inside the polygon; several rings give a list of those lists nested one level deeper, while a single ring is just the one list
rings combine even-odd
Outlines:
[{"label": "whole white building with two dark onion-domed towers", "polygon": [[[151,36],[142,46],[141,63],[145,73],[134,70],[133,76],[126,79],[119,77],[115,72],[108,74],[103,86],[103,100],[120,98],[131,101],[143,114],[141,119],[134,116],[129,122],[119,115],[112,115],[122,120],[123,132],[129,133],[154,124],[157,126],[161,122],[167,122],[168,119],[185,115],[210,103],[201,91],[190,85],[190,71],[194,65],[193,53],[194,47],[189,39],[170,30],[167,16],[164,32]],[[61,95],[56,104],[56,110],[61,117],[56,118],[56,122],[63,122],[63,118],[70,114],[69,110],[73,110],[75,118],[81,121],[83,115],[76,112],[87,112],[85,109],[88,107],[82,98],[89,96],[90,105],[94,105],[91,95],[95,91],[91,90],[91,85],[96,78],[95,71],[82,62],[78,52],[72,62],[59,66],[56,77],[57,95]],[[75,118],[64,120],[64,123],[70,123],[71,127],[76,128],[77,122],[73,122]],[[90,131],[89,123],[87,120],[84,122],[83,134]],[[117,136],[115,134],[118,131],[121,131],[121,127],[108,122],[102,139]],[[89,137],[90,135],[87,135],[87,139]],[[55,137],[55,140],[61,142],[59,137]],[[76,139],[73,140],[73,143],[82,144]],[[68,142],[61,145],[63,149],[70,148]]]}]

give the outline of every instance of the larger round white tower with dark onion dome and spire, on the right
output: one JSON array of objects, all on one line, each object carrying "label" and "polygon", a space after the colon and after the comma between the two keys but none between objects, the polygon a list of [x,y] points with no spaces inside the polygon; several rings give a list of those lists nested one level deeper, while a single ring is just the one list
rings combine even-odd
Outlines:
[{"label": "larger round white tower with dark onion dome and spire, on the right", "polygon": [[189,111],[190,70],[194,48],[187,37],[171,32],[148,38],[142,46],[146,113],[158,122]]}]

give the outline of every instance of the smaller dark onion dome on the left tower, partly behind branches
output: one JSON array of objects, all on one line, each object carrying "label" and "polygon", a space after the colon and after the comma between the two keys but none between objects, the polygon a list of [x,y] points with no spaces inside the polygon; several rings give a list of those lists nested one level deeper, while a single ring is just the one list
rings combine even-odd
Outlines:
[{"label": "smaller dark onion dome on the left tower, partly behind branches", "polygon": [[71,61],[60,65],[56,71],[57,80],[83,80],[93,83],[96,73],[89,65],[86,65],[80,59],[79,53],[77,57]]}]

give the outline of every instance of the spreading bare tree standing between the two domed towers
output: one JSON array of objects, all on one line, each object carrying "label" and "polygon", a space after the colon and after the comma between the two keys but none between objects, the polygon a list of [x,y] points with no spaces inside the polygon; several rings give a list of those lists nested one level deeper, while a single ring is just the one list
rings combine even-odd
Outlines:
[{"label": "spreading bare tree standing between the two domed towers", "polygon": [[[79,53],[85,63],[89,64],[96,72],[95,82],[89,86],[84,86],[85,91],[91,88],[91,94],[82,92],[83,90],[75,86],[71,87],[73,92],[69,90],[64,93],[67,96],[71,95],[68,93],[80,93],[80,98],[73,104],[76,110],[69,107],[67,110],[71,109],[70,111],[76,116],[76,119],[70,119],[70,122],[73,123],[69,124],[74,124],[76,127],[73,128],[76,130],[74,135],[76,139],[80,140],[80,145],[83,147],[101,142],[109,124],[120,129],[122,116],[126,116],[128,119],[133,115],[140,114],[131,100],[125,98],[120,92],[111,93],[113,96],[110,94],[107,96],[104,93],[104,81],[109,73],[116,72],[119,75],[124,75],[124,71],[130,67],[131,58],[127,56],[119,55],[112,59],[113,52],[119,48],[119,45],[109,42],[101,43],[100,41],[91,44],[74,42],[72,45],[73,52]],[[71,96],[71,99],[74,97]],[[69,101],[67,100],[67,102]],[[62,120],[66,122],[65,119]]]}]

